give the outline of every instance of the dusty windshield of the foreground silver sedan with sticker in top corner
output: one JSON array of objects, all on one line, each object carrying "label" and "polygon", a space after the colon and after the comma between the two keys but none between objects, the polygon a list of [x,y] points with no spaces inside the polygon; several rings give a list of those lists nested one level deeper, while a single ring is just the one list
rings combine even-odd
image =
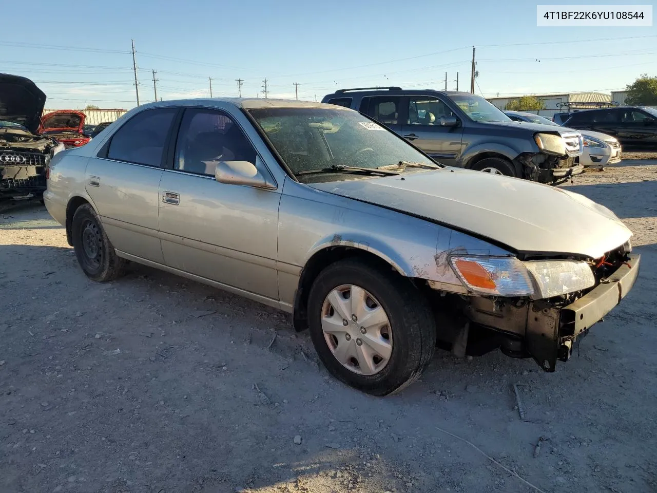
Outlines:
[{"label": "dusty windshield of the foreground silver sedan with sticker in top corner", "polygon": [[436,164],[388,129],[350,110],[260,108],[250,110],[293,174],[399,162]]}]

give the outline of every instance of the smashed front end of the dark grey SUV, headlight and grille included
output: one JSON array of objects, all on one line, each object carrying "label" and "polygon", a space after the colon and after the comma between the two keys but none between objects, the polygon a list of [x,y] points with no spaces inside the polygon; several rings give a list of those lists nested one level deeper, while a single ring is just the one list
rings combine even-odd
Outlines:
[{"label": "smashed front end of the dark grey SUV, headlight and grille included", "polygon": [[558,185],[583,173],[584,166],[579,164],[583,139],[578,131],[537,133],[534,140],[539,152],[522,153],[515,159],[522,168],[522,177]]}]

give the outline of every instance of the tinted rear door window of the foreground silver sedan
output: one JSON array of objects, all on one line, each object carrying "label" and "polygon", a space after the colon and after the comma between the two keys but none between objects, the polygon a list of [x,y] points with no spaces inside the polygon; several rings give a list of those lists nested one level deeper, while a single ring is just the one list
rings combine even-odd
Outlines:
[{"label": "tinted rear door window of the foreground silver sedan", "polygon": [[137,113],[112,136],[109,159],[159,168],[177,109],[157,108]]}]

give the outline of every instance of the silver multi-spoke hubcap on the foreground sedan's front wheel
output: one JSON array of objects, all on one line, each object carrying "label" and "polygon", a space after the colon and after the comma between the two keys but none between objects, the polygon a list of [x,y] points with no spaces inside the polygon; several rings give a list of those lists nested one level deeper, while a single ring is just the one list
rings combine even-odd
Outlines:
[{"label": "silver multi-spoke hubcap on the foreground sedan's front wheel", "polygon": [[365,289],[342,285],[328,293],[322,307],[328,348],[344,367],[374,375],[392,356],[392,329],[378,300]]}]

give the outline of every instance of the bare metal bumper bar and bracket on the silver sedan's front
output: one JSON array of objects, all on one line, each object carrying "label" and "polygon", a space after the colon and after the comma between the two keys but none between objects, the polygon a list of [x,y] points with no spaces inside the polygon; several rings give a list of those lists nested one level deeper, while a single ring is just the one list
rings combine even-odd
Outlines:
[{"label": "bare metal bumper bar and bracket on the silver sedan's front", "polygon": [[573,348],[591,326],[602,320],[634,286],[641,256],[634,254],[610,277],[575,302],[557,307],[549,300],[522,306],[499,300],[473,298],[467,310],[471,321],[509,338],[510,346],[530,356],[545,371],[555,371],[557,361],[568,361]]}]

